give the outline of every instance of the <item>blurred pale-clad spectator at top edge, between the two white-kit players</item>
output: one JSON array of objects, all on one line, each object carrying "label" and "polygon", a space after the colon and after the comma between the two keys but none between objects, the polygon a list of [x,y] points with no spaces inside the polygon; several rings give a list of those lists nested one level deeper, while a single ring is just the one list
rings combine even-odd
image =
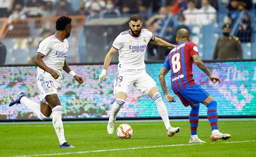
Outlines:
[{"label": "blurred pale-clad spectator at top edge, between the two white-kit players", "polygon": [[106,3],[104,0],[89,0],[85,3],[85,7],[91,16],[98,16],[102,10],[106,9]]}]

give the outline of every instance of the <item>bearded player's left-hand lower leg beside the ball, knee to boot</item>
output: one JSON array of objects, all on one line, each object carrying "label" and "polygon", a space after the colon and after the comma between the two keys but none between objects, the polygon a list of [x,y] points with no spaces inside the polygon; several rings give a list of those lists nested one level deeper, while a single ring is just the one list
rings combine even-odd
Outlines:
[{"label": "bearded player's left-hand lower leg beside the ball, knee to boot", "polygon": [[116,101],[113,103],[111,108],[111,115],[109,117],[109,122],[107,125],[107,131],[110,135],[114,133],[115,124],[116,124],[116,115],[125,104],[126,93],[125,92],[117,92],[116,93]]}]

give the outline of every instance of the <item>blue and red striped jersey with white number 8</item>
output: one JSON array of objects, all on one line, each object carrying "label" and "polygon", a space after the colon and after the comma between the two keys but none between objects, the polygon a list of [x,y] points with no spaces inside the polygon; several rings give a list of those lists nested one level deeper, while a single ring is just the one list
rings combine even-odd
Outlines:
[{"label": "blue and red striped jersey with white number 8", "polygon": [[180,42],[171,50],[162,67],[171,70],[171,84],[173,92],[177,93],[195,85],[192,74],[192,55],[198,55],[198,48],[192,42]]}]

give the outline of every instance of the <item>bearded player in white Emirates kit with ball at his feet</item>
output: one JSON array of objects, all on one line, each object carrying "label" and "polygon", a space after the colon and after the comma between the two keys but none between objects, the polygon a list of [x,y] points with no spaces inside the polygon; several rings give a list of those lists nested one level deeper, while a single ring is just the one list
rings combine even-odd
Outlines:
[{"label": "bearded player in white Emirates kit with ball at his feet", "polygon": [[[179,127],[170,125],[168,112],[162,101],[162,96],[156,86],[156,82],[145,70],[144,56],[149,42],[159,46],[172,47],[172,45],[162,39],[154,37],[147,29],[141,29],[142,22],[139,15],[132,15],[130,18],[130,30],[124,31],[116,37],[113,45],[106,55],[102,73],[99,81],[105,80],[106,70],[111,62],[112,56],[119,52],[118,73],[114,81],[114,94],[116,101],[112,105],[107,131],[111,135],[115,129],[116,115],[124,105],[127,94],[133,85],[143,95],[148,95],[156,103],[157,110],[162,117],[167,130],[167,135],[173,136],[180,131]],[[170,97],[172,97],[170,95]],[[170,98],[174,101],[173,97]]]}]

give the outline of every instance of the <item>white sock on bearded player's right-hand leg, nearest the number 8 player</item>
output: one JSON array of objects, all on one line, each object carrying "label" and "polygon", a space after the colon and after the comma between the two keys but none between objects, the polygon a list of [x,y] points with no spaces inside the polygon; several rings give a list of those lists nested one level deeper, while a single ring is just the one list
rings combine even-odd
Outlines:
[{"label": "white sock on bearded player's right-hand leg, nearest the number 8 player", "polygon": [[160,95],[159,92],[156,92],[153,95],[152,100],[156,103],[158,113],[162,117],[162,120],[165,123],[166,129],[168,129],[171,125],[170,125],[170,121],[169,121],[169,117],[168,117],[167,108],[166,108],[164,102],[162,101],[162,96]]}]

